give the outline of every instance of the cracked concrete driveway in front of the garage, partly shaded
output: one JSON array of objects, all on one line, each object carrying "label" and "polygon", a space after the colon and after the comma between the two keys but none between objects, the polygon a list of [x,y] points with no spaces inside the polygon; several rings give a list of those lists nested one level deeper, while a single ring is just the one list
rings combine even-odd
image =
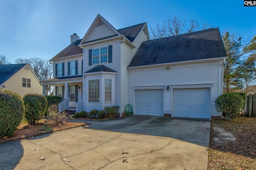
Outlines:
[{"label": "cracked concrete driveway in front of the garage, partly shaded", "polygon": [[0,170],[207,169],[210,121],[133,115],[86,122],[0,144]]}]

